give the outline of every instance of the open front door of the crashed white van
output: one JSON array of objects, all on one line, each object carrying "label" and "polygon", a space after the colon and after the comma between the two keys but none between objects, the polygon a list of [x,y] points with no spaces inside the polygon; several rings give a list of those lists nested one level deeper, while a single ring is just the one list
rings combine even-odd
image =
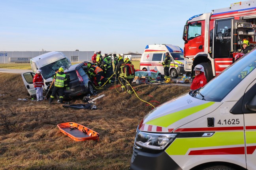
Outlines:
[{"label": "open front door of the crashed white van", "polygon": [[28,90],[28,93],[30,96],[36,95],[36,90],[33,85],[33,78],[36,74],[33,72],[24,72],[21,73],[21,77],[23,79],[24,85],[26,89]]}]

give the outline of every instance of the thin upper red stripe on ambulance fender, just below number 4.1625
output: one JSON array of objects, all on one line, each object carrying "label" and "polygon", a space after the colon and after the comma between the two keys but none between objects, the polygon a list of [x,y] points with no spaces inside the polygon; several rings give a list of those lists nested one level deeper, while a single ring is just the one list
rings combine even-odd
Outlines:
[{"label": "thin upper red stripe on ambulance fender, just below number 4.1625", "polygon": [[179,128],[175,132],[187,132],[187,131],[227,131],[227,130],[243,130],[243,126],[236,127],[197,127],[197,128]]}]

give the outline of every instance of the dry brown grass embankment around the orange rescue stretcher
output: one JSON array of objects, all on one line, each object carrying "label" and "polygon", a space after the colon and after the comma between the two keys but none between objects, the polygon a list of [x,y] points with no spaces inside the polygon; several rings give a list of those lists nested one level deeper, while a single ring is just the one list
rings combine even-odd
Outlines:
[{"label": "dry brown grass embankment around the orange rescue stretcher", "polygon": [[[53,105],[17,100],[29,98],[21,75],[0,73],[0,94],[5,94],[0,95],[0,169],[128,170],[136,127],[151,106],[110,86],[98,91],[106,96],[96,100],[97,110],[65,109],[56,100]],[[143,100],[160,103],[190,91],[175,85],[133,86]],[[155,87],[150,93],[154,99],[143,95]],[[99,142],[75,142],[57,128],[63,122],[77,122],[100,133]]]}]

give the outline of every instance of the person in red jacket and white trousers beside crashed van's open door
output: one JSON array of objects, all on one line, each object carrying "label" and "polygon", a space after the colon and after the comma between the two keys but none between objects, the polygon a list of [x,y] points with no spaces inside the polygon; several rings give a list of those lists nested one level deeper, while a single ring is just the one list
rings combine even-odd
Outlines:
[{"label": "person in red jacket and white trousers beside crashed van's open door", "polygon": [[[36,100],[43,100],[43,77],[41,76],[41,70],[36,70],[36,75],[33,78],[33,84],[36,90]],[[42,87],[43,86],[43,87]]]}]

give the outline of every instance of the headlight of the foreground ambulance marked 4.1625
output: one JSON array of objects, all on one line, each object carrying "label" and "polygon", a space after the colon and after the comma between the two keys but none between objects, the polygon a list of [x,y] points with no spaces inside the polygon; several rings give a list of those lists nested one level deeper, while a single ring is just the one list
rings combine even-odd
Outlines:
[{"label": "headlight of the foreground ambulance marked 4.1625", "polygon": [[138,130],[134,145],[152,150],[164,150],[176,136],[176,133],[148,133]]}]

